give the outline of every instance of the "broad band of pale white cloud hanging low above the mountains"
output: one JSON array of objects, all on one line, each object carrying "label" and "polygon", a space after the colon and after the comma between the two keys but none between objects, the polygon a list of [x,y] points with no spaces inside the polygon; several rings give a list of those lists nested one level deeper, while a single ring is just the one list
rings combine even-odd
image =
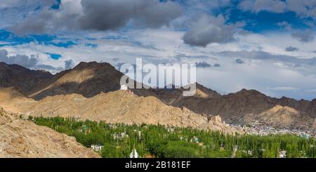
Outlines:
[{"label": "broad band of pale white cloud hanging low above the mountains", "polygon": [[[117,65],[119,62],[206,62],[220,64],[220,67],[200,67],[197,81],[220,93],[253,88],[271,96],[286,95],[293,98],[315,98],[316,93],[316,41],[301,44],[290,33],[239,35],[236,41],[224,44],[209,44],[205,48],[183,44],[185,32],[169,28],[139,29],[128,32],[95,32],[88,34],[60,35],[55,41],[78,40],[70,48],[38,43],[18,46],[4,46],[9,56],[36,55],[39,65],[51,65],[55,69],[65,68],[65,61],[73,65],[81,61],[103,61]],[[105,39],[117,37],[117,39]],[[123,37],[123,38],[120,38]],[[85,44],[97,44],[96,48]],[[298,51],[288,52],[285,48],[295,46]],[[45,53],[62,55],[59,60],[49,58]],[[237,65],[240,58],[244,64]],[[53,70],[51,72],[57,72]],[[294,89],[276,89],[291,87]],[[270,89],[269,89],[270,88]],[[275,89],[273,89],[275,88]]]}]

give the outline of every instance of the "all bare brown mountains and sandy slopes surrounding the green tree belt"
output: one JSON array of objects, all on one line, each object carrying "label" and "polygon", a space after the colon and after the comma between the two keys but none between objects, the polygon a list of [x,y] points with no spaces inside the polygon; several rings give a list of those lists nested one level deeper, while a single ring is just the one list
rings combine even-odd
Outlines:
[{"label": "all bare brown mountains and sandy slopes surrounding the green tree belt", "polygon": [[98,157],[72,137],[20,119],[29,116],[162,124],[223,133],[244,133],[224,120],[232,124],[316,127],[316,99],[270,98],[246,89],[220,95],[200,84],[191,97],[183,96],[183,88],[120,90],[123,74],[108,63],[98,62],[81,62],[55,75],[3,62],[0,69],[0,106],[4,107],[0,157]]}]

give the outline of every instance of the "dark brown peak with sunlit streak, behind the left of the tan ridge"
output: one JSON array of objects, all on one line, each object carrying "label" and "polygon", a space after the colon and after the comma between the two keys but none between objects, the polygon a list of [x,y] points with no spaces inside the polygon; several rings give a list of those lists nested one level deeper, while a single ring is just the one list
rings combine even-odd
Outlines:
[{"label": "dark brown peak with sunlit streak, behind the left of the tan ridge", "polygon": [[78,93],[90,98],[102,92],[119,90],[121,72],[109,63],[80,62],[72,70],[55,74],[29,91],[28,96],[41,100],[50,95]]}]

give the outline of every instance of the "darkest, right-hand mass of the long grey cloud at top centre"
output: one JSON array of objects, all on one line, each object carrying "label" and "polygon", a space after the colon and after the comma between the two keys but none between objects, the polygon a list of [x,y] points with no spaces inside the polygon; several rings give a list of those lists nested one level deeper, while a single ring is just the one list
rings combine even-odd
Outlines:
[{"label": "darkest, right-hand mass of the long grey cloud at top centre", "polygon": [[81,5],[84,15],[79,22],[83,29],[117,29],[130,20],[148,27],[160,27],[182,14],[182,8],[172,1],[82,0]]}]

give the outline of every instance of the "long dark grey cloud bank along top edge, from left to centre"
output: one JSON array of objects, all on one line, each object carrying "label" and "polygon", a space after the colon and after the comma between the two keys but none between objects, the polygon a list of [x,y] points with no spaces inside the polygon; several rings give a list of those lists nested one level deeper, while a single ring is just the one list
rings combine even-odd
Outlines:
[{"label": "long dark grey cloud bank along top edge, from left to centre", "polygon": [[[112,30],[129,22],[142,27],[161,27],[183,13],[179,4],[158,0],[81,0],[67,1],[60,9],[44,8],[11,27],[15,34],[43,34],[62,29]],[[82,11],[77,10],[78,6]]]}]

